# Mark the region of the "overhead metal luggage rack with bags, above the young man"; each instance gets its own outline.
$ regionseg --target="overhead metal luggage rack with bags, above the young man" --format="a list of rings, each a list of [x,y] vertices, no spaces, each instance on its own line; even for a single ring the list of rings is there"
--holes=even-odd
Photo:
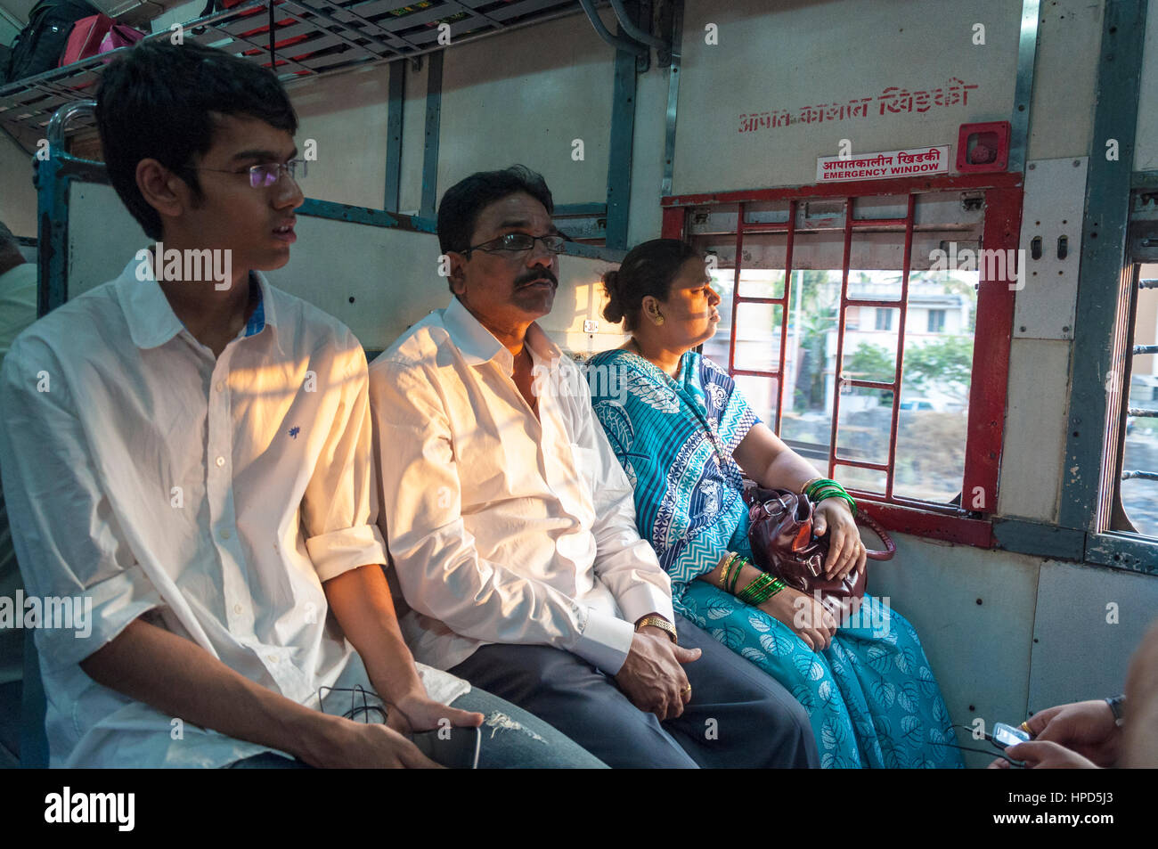
[[[450,44],[581,12],[573,0],[277,0],[274,60],[286,85],[359,65],[415,58]],[[182,24],[185,39],[270,64],[269,3],[245,2]],[[445,27],[442,24],[446,24]],[[449,29],[447,29],[447,27]],[[173,30],[146,41],[169,39]],[[440,36],[444,36],[440,42]],[[292,42],[292,43],[291,43]],[[0,124],[43,132],[52,114],[89,100],[117,51],[0,88]]]

